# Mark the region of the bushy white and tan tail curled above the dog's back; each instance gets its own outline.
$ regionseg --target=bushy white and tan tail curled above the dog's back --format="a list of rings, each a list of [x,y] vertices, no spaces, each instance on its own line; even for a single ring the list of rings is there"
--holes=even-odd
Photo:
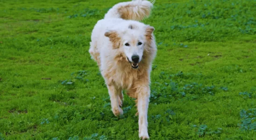
[[[141,21],[149,17],[154,3],[155,0],[151,0],[151,2],[148,0],[121,2],[109,9],[104,19],[121,18],[124,20]]]

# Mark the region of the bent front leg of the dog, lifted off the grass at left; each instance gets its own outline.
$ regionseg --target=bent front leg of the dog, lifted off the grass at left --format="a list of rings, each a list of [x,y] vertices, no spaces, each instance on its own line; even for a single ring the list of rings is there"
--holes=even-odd
[[[107,89],[108,89],[108,94],[110,96],[112,112],[114,113],[115,116],[122,115],[123,111],[119,105],[119,100],[120,100],[119,94],[121,93],[121,89],[116,88],[114,85],[108,85]]]

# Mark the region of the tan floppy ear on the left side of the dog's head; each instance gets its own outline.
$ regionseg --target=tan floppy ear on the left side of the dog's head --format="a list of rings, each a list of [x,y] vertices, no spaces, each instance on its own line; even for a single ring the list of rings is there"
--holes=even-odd
[[[119,48],[121,38],[116,31],[106,31],[104,35],[109,38],[110,42],[112,42],[113,49]]]

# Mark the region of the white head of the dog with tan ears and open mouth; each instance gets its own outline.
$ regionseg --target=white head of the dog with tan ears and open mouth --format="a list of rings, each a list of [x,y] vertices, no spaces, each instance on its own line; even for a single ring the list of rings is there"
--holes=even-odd
[[[144,50],[149,47],[152,33],[155,28],[143,25],[143,27],[129,25],[123,31],[110,30],[105,36],[113,44],[113,49],[121,49],[132,68],[137,69],[142,61]]]

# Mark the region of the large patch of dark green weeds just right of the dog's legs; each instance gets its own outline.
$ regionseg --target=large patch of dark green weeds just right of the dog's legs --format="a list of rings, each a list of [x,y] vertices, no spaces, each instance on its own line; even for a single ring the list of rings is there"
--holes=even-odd
[[[182,71],[171,75],[162,71],[159,75],[159,82],[155,82],[151,85],[150,102],[166,103],[170,102],[171,98],[179,99],[186,95],[214,95],[217,91],[214,85],[204,86],[203,84],[195,82],[185,85],[181,83],[178,84],[178,81],[185,79],[185,77],[187,77],[187,75],[184,75]]]

